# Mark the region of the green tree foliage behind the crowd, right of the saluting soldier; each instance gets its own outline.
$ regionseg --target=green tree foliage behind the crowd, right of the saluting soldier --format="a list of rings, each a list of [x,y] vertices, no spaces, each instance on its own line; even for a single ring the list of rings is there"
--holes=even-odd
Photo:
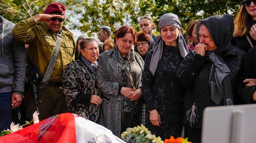
[[[74,11],[73,17],[78,15],[80,21],[79,26],[72,27],[87,32],[89,36],[92,32],[98,32],[102,25],[108,25],[115,31],[127,24],[139,31],[139,17],[146,14],[150,14],[158,25],[162,15],[175,13],[185,29],[193,19],[221,14],[234,16],[240,8],[240,0],[85,0],[78,3],[68,6]],[[158,26],[156,27],[158,32]]]

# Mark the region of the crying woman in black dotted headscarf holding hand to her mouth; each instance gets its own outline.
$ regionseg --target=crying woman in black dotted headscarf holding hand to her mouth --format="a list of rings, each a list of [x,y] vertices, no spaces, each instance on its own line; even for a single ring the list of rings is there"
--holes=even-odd
[[[196,24],[199,44],[182,61],[177,76],[187,88],[184,99],[185,137],[201,141],[205,107],[238,102],[238,71],[244,52],[230,44],[234,31],[230,15],[211,16]]]

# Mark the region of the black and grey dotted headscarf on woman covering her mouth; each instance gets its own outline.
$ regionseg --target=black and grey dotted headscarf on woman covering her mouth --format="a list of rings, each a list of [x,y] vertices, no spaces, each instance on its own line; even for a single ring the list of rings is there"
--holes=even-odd
[[[196,24],[196,37],[199,41],[199,29],[203,24],[209,31],[215,51],[206,51],[205,55],[212,62],[209,84],[211,86],[211,99],[217,105],[223,99],[224,105],[233,105],[233,95],[230,81],[231,71],[225,64],[222,56],[228,51],[234,32],[234,22],[230,15],[211,16],[199,20]]]

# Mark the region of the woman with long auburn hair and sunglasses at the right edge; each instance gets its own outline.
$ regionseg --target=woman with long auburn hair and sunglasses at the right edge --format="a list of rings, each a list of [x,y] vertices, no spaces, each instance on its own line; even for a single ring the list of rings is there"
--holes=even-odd
[[[247,52],[256,46],[256,1],[244,0],[241,4],[234,20],[235,30],[231,45]]]

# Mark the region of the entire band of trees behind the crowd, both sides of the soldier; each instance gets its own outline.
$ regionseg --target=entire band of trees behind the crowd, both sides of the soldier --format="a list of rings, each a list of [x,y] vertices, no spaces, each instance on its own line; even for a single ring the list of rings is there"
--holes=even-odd
[[[53,0],[0,0],[0,15],[17,23],[38,13],[43,13]],[[230,14],[233,17],[240,8],[240,0],[57,0],[63,3],[68,15],[65,25],[78,29],[91,36],[102,25],[112,31],[120,26],[129,25],[140,30],[139,17],[150,14],[156,24],[165,13],[177,14],[185,29],[193,19],[207,18],[212,15]]]

